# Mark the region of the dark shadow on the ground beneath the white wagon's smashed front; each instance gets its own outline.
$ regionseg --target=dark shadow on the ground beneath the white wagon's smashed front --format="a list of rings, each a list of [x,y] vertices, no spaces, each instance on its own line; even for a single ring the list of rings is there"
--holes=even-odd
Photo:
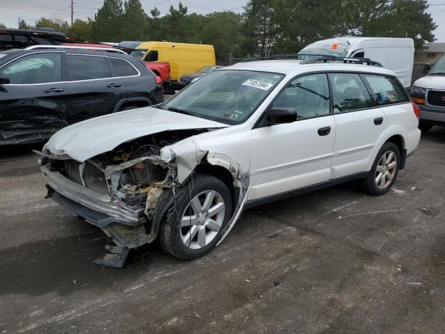
[[[0,250],[0,296],[68,296],[97,287],[119,290],[154,268],[180,262],[154,243],[131,250],[124,269],[94,264],[105,255],[105,243],[103,232],[85,223],[81,234]]]

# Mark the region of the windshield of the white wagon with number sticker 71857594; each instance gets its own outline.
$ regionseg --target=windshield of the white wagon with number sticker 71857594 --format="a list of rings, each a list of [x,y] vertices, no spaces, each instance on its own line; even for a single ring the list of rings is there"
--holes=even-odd
[[[235,125],[247,120],[283,77],[270,72],[219,70],[159,107]]]

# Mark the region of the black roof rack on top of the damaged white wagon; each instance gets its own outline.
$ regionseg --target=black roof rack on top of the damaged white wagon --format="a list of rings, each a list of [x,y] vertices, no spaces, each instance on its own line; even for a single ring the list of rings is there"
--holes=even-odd
[[[301,59],[302,56],[309,56],[310,58],[303,59],[300,64],[313,64],[317,62],[326,63],[327,61],[342,61],[343,63],[350,64],[366,64],[371,66],[383,67],[381,63],[378,61],[372,61],[369,58],[350,58],[350,57],[339,57],[332,56],[331,54],[274,54],[268,57],[254,57],[254,58],[245,58],[241,62],[245,63],[248,61],[273,61],[280,59]]]

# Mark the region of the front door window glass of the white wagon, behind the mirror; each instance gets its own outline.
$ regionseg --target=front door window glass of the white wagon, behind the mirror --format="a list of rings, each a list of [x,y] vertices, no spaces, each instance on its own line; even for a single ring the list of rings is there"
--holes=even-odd
[[[326,74],[310,74],[293,80],[273,103],[275,108],[293,108],[297,119],[328,115],[329,86]]]

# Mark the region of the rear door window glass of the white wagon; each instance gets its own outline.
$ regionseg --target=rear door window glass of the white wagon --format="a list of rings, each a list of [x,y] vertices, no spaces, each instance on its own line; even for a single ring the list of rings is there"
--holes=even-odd
[[[334,113],[363,109],[374,105],[359,74],[333,73],[330,74],[330,77],[334,97]]]

